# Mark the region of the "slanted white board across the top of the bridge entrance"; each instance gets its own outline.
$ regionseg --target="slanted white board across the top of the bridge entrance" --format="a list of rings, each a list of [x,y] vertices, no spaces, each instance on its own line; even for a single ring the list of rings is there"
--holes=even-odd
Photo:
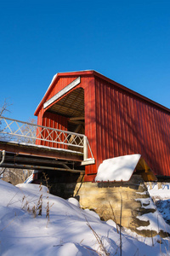
[[[50,98],[47,102],[43,104],[43,108],[47,108],[49,105],[51,105],[53,102],[58,100],[61,96],[64,96],[65,93],[67,93],[69,90],[80,84],[81,79],[78,77],[74,81],[71,82],[71,84],[68,84],[64,89],[60,90],[58,93],[56,93],[52,98]]]

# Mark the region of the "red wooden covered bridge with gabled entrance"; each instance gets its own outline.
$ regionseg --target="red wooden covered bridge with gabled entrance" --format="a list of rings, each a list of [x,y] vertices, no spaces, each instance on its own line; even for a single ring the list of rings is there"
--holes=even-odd
[[[100,73],[58,73],[35,115],[37,125],[88,137],[95,163],[85,166],[85,181],[103,160],[125,154],[141,154],[157,176],[170,176],[170,109]]]

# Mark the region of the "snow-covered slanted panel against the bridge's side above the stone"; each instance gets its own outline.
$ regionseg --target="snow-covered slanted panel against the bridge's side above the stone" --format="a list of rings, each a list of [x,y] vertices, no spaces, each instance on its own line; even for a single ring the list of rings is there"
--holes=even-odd
[[[104,160],[99,165],[95,182],[129,181],[140,157],[141,154],[127,154]]]

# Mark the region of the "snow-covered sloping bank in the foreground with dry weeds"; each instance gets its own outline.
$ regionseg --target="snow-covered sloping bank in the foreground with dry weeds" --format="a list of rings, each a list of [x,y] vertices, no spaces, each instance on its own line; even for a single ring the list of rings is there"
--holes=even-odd
[[[42,215],[31,213],[41,205]],[[130,230],[122,230],[121,238],[122,255],[170,255],[168,238],[160,243],[159,236]],[[0,180],[0,255],[121,255],[121,239],[112,220],[101,221],[73,198],[65,201],[37,184],[14,187]]]

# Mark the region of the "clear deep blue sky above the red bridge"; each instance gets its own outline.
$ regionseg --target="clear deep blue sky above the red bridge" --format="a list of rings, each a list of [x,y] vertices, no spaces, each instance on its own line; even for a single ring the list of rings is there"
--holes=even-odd
[[[170,108],[169,0],[0,0],[0,104],[28,120],[55,73],[96,70]]]

